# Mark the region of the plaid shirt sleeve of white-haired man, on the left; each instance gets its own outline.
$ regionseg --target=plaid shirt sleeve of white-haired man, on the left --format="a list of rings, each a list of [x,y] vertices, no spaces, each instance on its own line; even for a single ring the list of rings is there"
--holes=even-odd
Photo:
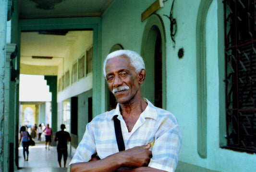
[[[88,162],[91,160],[92,155],[96,153],[94,135],[93,132],[89,129],[89,124],[86,125],[83,139],[76,148],[73,159],[69,165],[78,162]]]

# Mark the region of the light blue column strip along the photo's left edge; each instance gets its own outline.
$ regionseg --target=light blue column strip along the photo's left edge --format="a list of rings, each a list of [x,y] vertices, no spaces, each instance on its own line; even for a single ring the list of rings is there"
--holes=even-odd
[[[0,0],[0,172],[4,171],[4,69],[6,59],[7,0]],[[8,167],[7,167],[8,168]],[[5,170],[6,171],[6,170]]]

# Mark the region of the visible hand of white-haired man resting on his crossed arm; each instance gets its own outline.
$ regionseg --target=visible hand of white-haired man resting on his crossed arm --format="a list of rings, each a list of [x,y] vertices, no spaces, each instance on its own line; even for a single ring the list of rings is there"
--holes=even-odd
[[[146,167],[152,158],[152,152],[148,150],[149,148],[150,144],[147,144],[119,152],[124,160],[122,166],[130,168]]]

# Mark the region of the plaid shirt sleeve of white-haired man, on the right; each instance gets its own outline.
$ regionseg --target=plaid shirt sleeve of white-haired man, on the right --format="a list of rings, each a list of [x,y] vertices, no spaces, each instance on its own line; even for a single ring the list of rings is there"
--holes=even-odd
[[[165,118],[155,135],[149,167],[174,172],[181,149],[181,132],[175,117]]]

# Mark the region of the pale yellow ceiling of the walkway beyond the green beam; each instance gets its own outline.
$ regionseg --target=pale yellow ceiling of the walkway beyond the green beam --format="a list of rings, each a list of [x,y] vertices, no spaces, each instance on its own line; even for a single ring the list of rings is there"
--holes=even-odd
[[[82,32],[89,31],[69,31],[66,35],[22,32],[21,64],[58,66]]]

